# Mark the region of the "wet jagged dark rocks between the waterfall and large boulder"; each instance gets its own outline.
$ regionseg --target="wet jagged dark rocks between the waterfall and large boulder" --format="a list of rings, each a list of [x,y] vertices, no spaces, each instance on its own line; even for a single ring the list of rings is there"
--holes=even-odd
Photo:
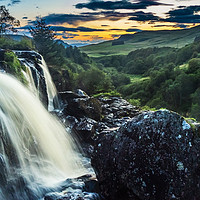
[[[93,144],[100,133],[105,134],[137,115],[139,110],[120,97],[98,99],[84,91],[59,93],[64,104],[64,118],[77,135],[86,143]]]

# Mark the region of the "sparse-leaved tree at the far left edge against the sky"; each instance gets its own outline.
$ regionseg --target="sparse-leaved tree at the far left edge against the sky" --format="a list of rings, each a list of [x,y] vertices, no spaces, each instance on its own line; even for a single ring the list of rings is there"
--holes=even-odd
[[[17,32],[15,27],[19,25],[19,20],[11,16],[5,6],[0,6],[0,36],[7,31]]]

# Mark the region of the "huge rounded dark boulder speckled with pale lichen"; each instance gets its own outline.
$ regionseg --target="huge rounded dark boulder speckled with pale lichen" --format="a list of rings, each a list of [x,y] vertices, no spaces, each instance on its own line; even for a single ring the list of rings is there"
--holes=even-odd
[[[92,165],[113,200],[200,199],[199,142],[178,114],[145,112],[102,135]]]

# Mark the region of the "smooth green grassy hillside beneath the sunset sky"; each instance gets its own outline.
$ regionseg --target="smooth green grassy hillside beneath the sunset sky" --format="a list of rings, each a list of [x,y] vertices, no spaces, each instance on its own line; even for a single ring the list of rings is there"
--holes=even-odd
[[[200,26],[181,30],[142,31],[122,35],[117,40],[84,46],[81,47],[81,51],[92,57],[127,55],[130,51],[148,47],[180,48],[199,37]]]

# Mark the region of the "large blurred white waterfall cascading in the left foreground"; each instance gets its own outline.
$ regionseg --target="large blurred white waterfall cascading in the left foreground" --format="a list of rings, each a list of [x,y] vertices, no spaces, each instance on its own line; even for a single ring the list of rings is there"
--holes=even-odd
[[[5,73],[0,73],[0,168],[0,178],[5,180],[0,181],[1,200],[36,200],[44,188],[85,173],[64,127],[38,98]],[[21,185],[35,196],[30,198],[27,189],[18,194]]]

